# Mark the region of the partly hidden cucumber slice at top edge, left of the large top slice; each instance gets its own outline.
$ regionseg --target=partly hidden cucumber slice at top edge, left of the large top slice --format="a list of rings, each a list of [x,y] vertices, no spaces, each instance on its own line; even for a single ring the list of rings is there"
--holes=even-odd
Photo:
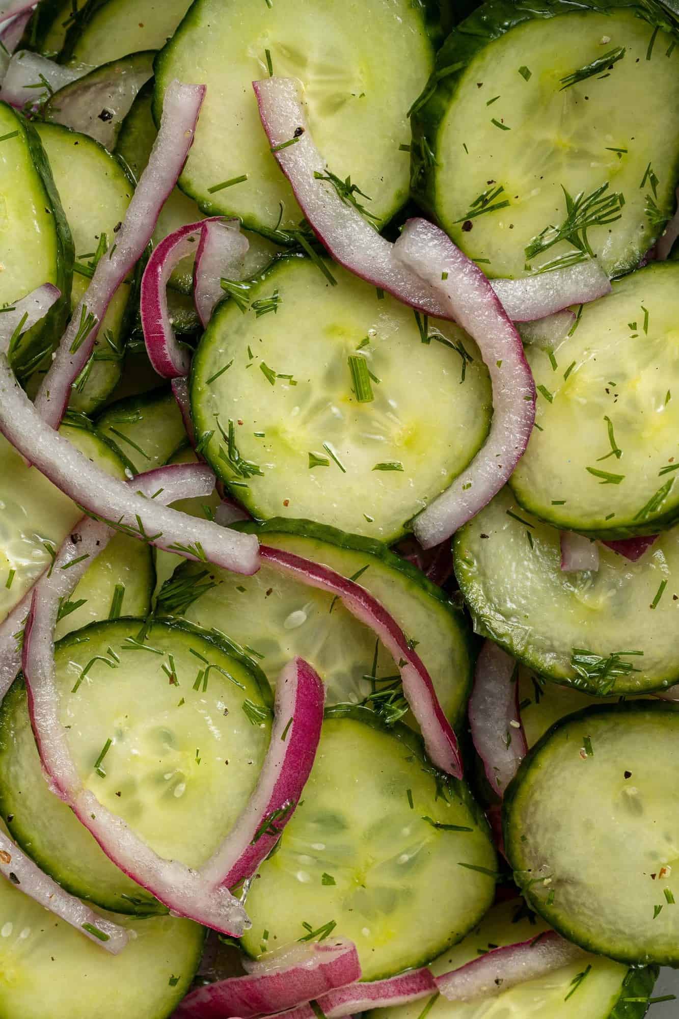
[[[61,60],[99,67],[128,53],[159,50],[190,6],[190,0],[88,0]]]

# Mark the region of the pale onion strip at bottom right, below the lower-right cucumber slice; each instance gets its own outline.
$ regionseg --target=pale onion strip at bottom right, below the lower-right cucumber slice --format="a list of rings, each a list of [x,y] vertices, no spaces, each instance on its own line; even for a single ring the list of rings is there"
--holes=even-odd
[[[439,993],[451,1002],[502,995],[510,987],[545,976],[582,959],[584,953],[554,930],[529,942],[492,949],[466,966],[435,977]]]

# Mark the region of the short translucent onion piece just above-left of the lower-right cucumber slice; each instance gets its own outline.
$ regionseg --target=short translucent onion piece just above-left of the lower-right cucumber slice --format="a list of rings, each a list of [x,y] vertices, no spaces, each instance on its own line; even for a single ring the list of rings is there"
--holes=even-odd
[[[515,667],[514,658],[487,640],[476,661],[469,698],[474,747],[490,787],[501,798],[528,753]]]

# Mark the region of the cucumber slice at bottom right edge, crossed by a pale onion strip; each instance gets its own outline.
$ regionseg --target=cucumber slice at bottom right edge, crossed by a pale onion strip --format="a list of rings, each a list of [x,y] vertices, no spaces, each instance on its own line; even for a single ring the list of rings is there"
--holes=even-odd
[[[527,942],[549,926],[526,910],[521,900],[493,906],[478,927],[430,964],[436,976],[464,966],[488,949]],[[582,976],[583,972],[585,973]],[[611,959],[590,956],[546,976],[520,983],[493,998],[449,1002],[442,995],[393,1009],[374,1009],[366,1019],[419,1019],[431,1004],[428,1019],[643,1019],[658,970],[628,969]]]

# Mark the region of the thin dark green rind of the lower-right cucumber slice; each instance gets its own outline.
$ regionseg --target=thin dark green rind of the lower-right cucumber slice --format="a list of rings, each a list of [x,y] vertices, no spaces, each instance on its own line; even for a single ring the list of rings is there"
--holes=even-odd
[[[638,711],[654,711],[660,712],[661,714],[679,714],[679,703],[674,703],[672,701],[618,701],[616,704],[593,704],[591,707],[583,708],[581,711],[574,711],[572,714],[567,714],[563,718],[552,726],[543,736],[535,743],[534,746],[530,748],[526,756],[521,761],[519,769],[515,776],[512,779],[511,783],[505,791],[505,797],[503,800],[503,842],[505,845],[505,853],[509,861],[510,867],[514,869],[514,873],[520,872],[523,868],[520,864],[523,862],[520,856],[520,845],[521,845],[521,833],[517,827],[514,833],[512,830],[512,807],[514,801],[517,798],[521,785],[526,781],[530,774],[533,767],[539,767],[540,764],[537,760],[544,746],[550,742],[552,736],[557,733],[560,729],[563,729],[566,725],[573,721],[579,721],[580,719],[587,719],[595,716],[597,714],[634,714]],[[575,794],[574,794],[575,795]],[[603,861],[603,868],[606,869],[606,861]],[[599,945],[595,945],[588,937],[584,937],[578,933],[567,921],[567,919],[560,916],[556,909],[551,909],[545,906],[545,903],[535,896],[531,895],[531,887],[528,884],[526,888],[521,888],[521,894],[528,901],[530,908],[539,914],[551,926],[554,927],[556,931],[567,937],[568,941],[574,942],[579,945],[580,948],[584,949],[585,952],[591,952],[594,955],[600,955],[602,949]],[[613,948],[613,947],[612,947]],[[630,958],[629,956],[623,957],[620,954],[613,951],[607,952],[609,958],[616,960],[617,962],[627,963],[633,967],[640,967],[636,971],[641,973],[643,968],[647,966],[647,963],[643,960],[638,960]],[[677,968],[679,966],[679,949],[677,955],[673,958],[658,960],[658,963],[663,966],[672,966]],[[655,966],[648,967],[651,971],[655,970]],[[634,970],[632,970],[634,972]],[[655,982],[655,981],[654,981]],[[652,985],[651,985],[652,986]],[[625,994],[627,997],[627,993]],[[630,995],[629,997],[635,997]],[[622,996],[621,996],[622,998]],[[638,1013],[632,1012],[630,1014],[625,1011],[620,1011],[620,1008],[625,1005],[628,1006],[634,1003],[628,1002],[618,1002],[616,1005],[617,1012],[614,1010],[611,1019],[636,1019]],[[638,1003],[637,1003],[638,1004]],[[642,1012],[641,1015],[644,1015]]]

